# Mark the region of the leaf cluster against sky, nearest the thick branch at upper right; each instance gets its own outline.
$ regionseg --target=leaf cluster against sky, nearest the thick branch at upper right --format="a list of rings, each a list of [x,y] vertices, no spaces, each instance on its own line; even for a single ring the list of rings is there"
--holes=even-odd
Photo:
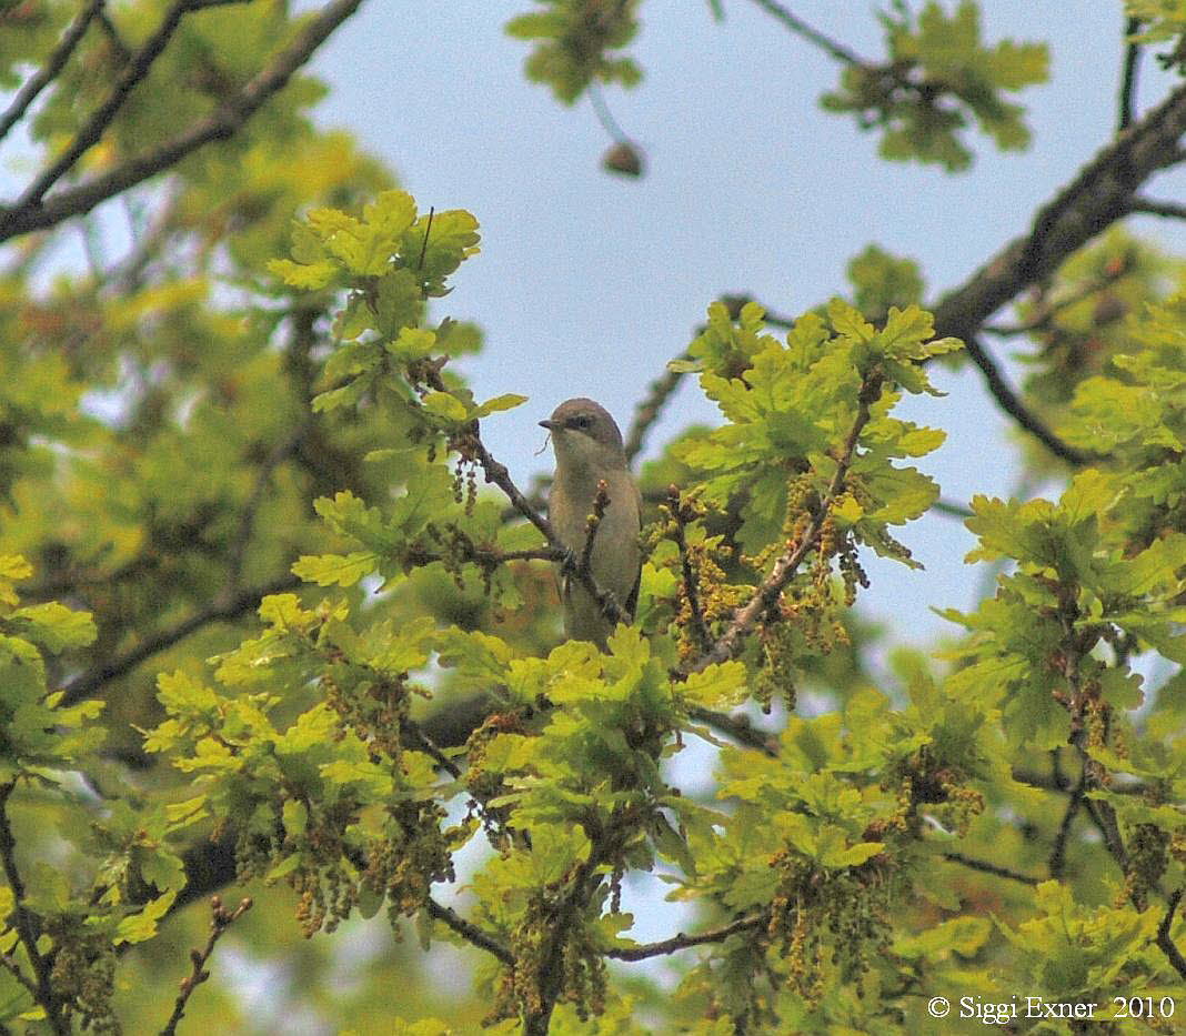
[[[1045,44],[984,46],[973,0],[961,0],[951,15],[929,0],[917,18],[897,0],[882,23],[887,60],[849,64],[840,90],[823,97],[827,110],[882,130],[882,158],[967,168],[971,152],[961,134],[973,120],[1003,151],[1028,145],[1024,109],[1003,95],[1046,82]]]

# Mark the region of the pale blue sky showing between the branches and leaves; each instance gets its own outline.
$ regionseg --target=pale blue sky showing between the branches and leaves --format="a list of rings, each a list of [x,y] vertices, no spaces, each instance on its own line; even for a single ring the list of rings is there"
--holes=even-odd
[[[536,9],[528,0],[368,0],[315,60],[331,87],[323,124],[353,130],[422,209],[468,209],[482,224],[482,254],[459,270],[438,312],[485,331],[484,352],[463,365],[479,398],[530,397],[483,426],[521,486],[551,466],[550,450],[540,452],[541,417],[565,398],[591,396],[625,430],[644,386],[722,293],[799,314],[846,293],[849,260],[876,243],[917,260],[933,300],[1025,231],[1114,130],[1120,0],[983,0],[984,39],[1048,41],[1052,76],[1020,96],[1031,149],[1001,154],[973,135],[977,158],[955,175],[879,159],[875,134],[818,105],[839,82],[833,59],[753,0],[722,6],[718,23],[707,0],[640,5],[630,53],[643,83],[605,91],[645,152],[640,180],[600,168],[610,140],[587,101],[566,108],[525,81],[528,45],[503,25]],[[872,4],[786,6],[862,57],[885,53]],[[1167,89],[1147,57],[1140,108]],[[1162,181],[1150,193],[1182,194],[1181,177]],[[1177,226],[1137,225],[1182,244]],[[910,399],[901,411],[949,433],[919,466],[954,501],[1015,493],[1018,452],[978,373],[969,365],[937,380],[946,398]],[[716,420],[686,378],[648,454],[689,423]],[[986,575],[962,563],[973,537],[936,514],[901,539],[926,571],[871,559],[861,607],[912,642],[955,633],[930,606],[969,609],[983,591]]]

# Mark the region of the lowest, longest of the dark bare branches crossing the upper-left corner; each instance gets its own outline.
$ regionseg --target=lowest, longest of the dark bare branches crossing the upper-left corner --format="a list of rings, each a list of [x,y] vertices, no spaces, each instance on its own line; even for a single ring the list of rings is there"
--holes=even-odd
[[[273,63],[213,115],[202,120],[160,147],[128,159],[108,173],[96,175],[76,187],[51,194],[40,205],[15,205],[0,209],[0,241],[31,230],[55,226],[72,216],[89,212],[101,202],[172,167],[191,152],[215,140],[225,140],[250,119],[273,94],[281,90],[293,73],[343,21],[359,7],[362,0],[333,0],[315,14],[296,38]]]

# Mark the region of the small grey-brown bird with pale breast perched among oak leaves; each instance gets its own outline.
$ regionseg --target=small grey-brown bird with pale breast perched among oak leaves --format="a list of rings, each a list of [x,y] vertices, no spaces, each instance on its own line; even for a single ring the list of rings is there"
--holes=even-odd
[[[626,468],[621,433],[608,411],[592,399],[568,399],[547,421],[556,452],[556,477],[548,497],[548,520],[561,542],[579,559],[588,539],[598,482],[606,484],[610,505],[593,539],[589,569],[602,590],[610,590],[624,612],[633,614],[638,600],[642,524],[638,486]],[[565,633],[573,640],[592,640],[602,650],[613,627],[580,581],[563,576],[560,600]]]

